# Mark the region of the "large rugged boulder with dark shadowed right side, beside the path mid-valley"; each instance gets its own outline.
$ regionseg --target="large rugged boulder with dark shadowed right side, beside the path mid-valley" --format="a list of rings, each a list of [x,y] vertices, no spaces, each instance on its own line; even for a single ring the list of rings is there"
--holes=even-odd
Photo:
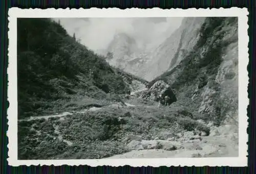
[[[150,89],[142,92],[140,98],[154,100],[160,102],[162,105],[170,105],[177,101],[177,98],[172,89],[170,89],[170,86],[162,80],[157,81]]]

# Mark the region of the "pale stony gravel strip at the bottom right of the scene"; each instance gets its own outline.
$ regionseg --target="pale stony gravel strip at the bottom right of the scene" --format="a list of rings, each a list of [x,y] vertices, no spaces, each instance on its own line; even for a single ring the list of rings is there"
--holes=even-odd
[[[131,152],[110,158],[191,158],[191,157],[236,157],[238,156],[237,135],[193,136],[186,140],[141,140],[131,145]],[[148,148],[150,144],[150,148]],[[157,148],[157,144],[161,147]],[[153,147],[153,149],[152,149]]]

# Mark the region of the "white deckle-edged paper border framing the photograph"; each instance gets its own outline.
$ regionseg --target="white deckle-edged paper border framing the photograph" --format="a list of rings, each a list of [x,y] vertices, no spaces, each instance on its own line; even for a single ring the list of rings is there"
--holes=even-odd
[[[8,163],[19,165],[90,165],[90,166],[247,166],[248,135],[246,129],[247,106],[249,104],[247,86],[248,55],[248,11],[246,8],[230,9],[18,9],[9,10],[8,48]],[[239,18],[239,157],[216,158],[154,158],[154,159],[87,159],[87,160],[17,160],[17,18],[75,18],[75,17],[206,17],[238,16]]]

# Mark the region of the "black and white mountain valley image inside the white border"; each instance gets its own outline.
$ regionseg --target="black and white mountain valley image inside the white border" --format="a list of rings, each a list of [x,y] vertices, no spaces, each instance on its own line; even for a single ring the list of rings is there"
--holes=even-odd
[[[17,17],[17,160],[239,157],[239,30],[238,16]]]

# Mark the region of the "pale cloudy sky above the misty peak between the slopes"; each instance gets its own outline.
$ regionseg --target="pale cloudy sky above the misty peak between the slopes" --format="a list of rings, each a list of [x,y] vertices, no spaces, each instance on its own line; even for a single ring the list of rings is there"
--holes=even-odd
[[[105,49],[118,32],[126,33],[140,44],[158,42],[181,24],[182,18],[57,18],[72,36],[96,51]]]

